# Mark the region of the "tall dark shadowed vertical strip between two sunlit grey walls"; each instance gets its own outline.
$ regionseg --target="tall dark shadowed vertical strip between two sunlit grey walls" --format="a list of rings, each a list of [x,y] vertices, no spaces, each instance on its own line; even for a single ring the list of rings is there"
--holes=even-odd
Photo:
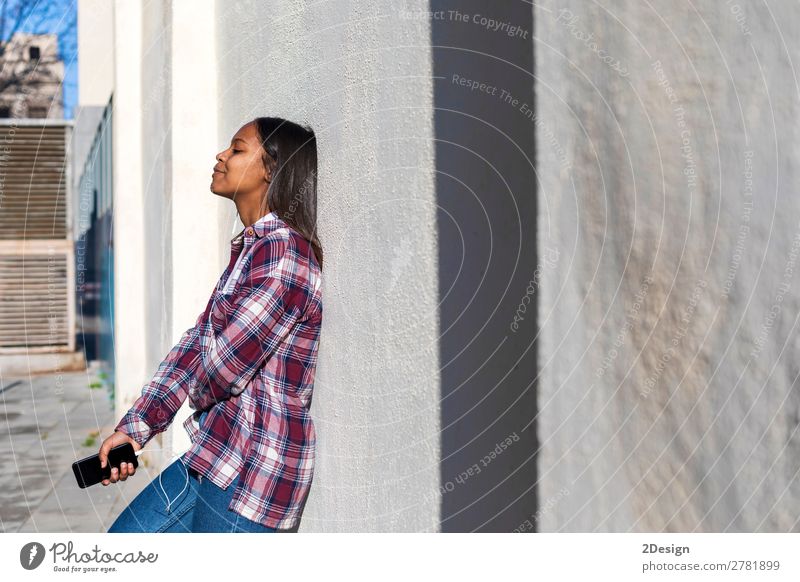
[[[430,3],[441,531],[535,531],[533,8]]]

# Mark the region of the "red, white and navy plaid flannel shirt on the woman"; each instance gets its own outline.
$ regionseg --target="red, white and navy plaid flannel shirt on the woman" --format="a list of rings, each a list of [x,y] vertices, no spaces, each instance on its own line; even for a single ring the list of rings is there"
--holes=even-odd
[[[246,228],[231,240],[205,311],[116,430],[144,446],[188,398],[195,412],[183,422],[192,440],[187,465],[223,489],[241,477],[228,509],[294,527],[314,470],[320,281],[311,245],[274,213]]]

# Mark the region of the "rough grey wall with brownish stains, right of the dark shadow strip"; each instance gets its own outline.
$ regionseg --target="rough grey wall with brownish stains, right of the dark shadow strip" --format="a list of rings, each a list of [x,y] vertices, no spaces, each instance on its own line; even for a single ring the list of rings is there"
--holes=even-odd
[[[540,529],[799,531],[800,9],[535,14]]]

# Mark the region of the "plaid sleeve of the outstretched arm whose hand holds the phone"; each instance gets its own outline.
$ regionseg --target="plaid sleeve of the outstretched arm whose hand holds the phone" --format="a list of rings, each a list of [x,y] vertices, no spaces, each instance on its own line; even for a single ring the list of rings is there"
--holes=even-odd
[[[186,400],[188,380],[199,356],[197,335],[207,310],[198,316],[194,327],[181,335],[114,430],[127,434],[144,447],[167,429]]]

